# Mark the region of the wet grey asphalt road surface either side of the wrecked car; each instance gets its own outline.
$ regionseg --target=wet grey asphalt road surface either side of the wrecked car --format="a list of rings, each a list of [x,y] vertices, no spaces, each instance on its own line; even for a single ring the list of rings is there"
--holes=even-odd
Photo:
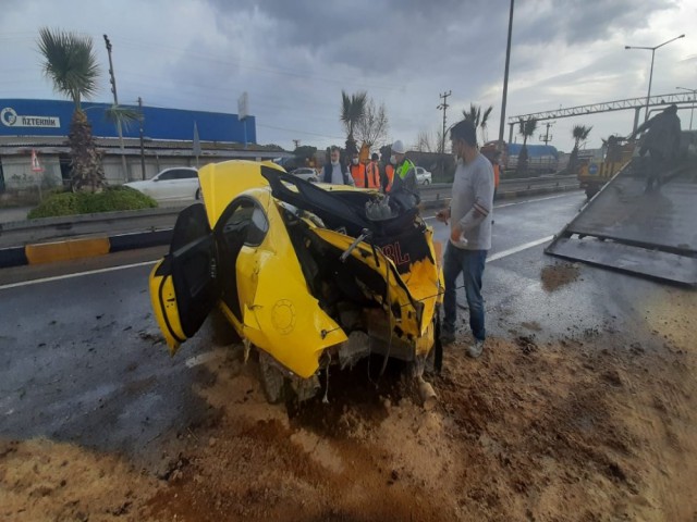
[[[497,206],[485,273],[490,335],[518,335],[521,324],[540,339],[610,323],[636,333],[647,330],[646,303],[689,291],[586,265],[559,290],[545,289],[541,272],[563,262],[543,246],[584,201],[574,191]],[[430,223],[444,239],[445,226]],[[230,337],[208,321],[168,356],[147,291],[162,251],[0,271],[0,437],[143,457],[205,422],[208,407],[192,386],[215,378],[200,363]]]

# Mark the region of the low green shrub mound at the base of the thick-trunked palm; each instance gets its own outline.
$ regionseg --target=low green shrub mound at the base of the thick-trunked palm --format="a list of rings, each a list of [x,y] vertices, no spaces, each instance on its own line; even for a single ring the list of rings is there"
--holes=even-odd
[[[33,209],[29,220],[58,215],[90,214],[118,210],[152,209],[157,202],[130,187],[109,187],[101,192],[60,192],[46,198]]]

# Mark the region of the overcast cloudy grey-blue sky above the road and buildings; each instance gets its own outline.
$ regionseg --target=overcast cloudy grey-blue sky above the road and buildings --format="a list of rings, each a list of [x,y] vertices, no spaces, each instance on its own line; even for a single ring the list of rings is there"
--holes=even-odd
[[[390,139],[415,144],[470,102],[501,114],[509,0],[2,0],[0,99],[58,99],[40,72],[42,26],[89,35],[102,64],[94,101],[111,101],[102,35],[113,47],[119,101],[237,112],[249,95],[261,144],[343,144],[341,90],[384,102]],[[506,116],[697,89],[694,0],[517,0]],[[689,110],[678,113],[683,128]],[[641,114],[643,117],[643,114]],[[634,111],[558,120],[552,145],[568,151],[575,124],[588,147],[632,130]],[[697,127],[697,122],[695,123]],[[543,127],[542,129],[543,130]],[[531,142],[539,142],[538,136]],[[205,135],[201,135],[205,139]],[[505,132],[508,139],[508,126]],[[519,138],[518,138],[519,139]]]

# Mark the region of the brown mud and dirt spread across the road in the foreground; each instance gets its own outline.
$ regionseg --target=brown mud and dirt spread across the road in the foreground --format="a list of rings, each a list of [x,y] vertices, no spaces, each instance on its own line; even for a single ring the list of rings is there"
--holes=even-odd
[[[431,411],[376,365],[333,378],[329,405],[269,406],[254,361],[220,349],[192,391],[204,421],[155,464],[3,442],[0,519],[694,521],[696,323],[664,304],[641,340],[521,325],[477,361],[453,345]]]

